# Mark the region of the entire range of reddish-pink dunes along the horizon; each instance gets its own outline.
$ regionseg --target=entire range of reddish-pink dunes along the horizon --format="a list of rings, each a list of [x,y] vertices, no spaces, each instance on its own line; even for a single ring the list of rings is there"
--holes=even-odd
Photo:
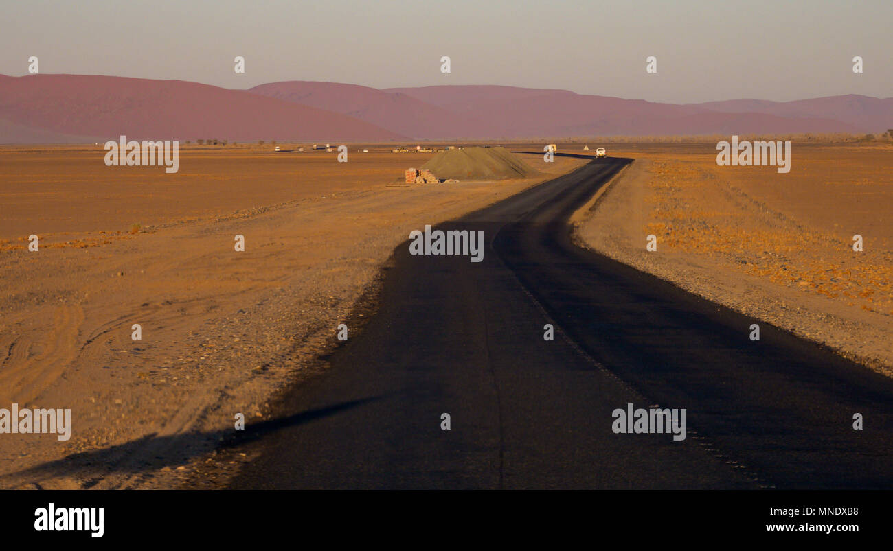
[[[293,80],[230,90],[182,80],[0,75],[0,143],[135,139],[379,142],[880,133],[893,98],[655,103],[514,86],[376,89]]]

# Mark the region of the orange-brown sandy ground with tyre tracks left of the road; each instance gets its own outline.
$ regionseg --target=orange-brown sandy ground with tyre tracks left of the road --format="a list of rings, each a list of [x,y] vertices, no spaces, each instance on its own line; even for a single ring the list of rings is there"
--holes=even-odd
[[[583,162],[406,187],[430,154],[270,149],[187,149],[176,175],[105,167],[96,147],[0,152],[0,407],[71,408],[73,427],[0,434],[0,487],[177,486],[237,413],[263,418],[320,365],[410,231]]]

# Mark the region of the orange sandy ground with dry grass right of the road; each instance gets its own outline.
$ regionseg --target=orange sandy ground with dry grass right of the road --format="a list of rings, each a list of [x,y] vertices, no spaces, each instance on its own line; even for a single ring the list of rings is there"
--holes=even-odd
[[[789,174],[718,167],[714,144],[609,154],[637,160],[580,243],[893,374],[893,149],[794,144]]]

